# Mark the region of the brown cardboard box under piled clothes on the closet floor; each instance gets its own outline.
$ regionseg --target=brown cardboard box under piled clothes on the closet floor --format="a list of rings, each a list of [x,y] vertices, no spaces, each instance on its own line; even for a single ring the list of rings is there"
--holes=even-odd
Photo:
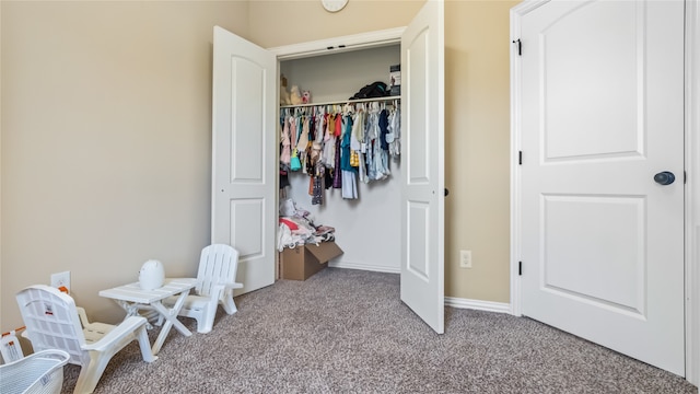
[[[335,242],[322,242],[285,248],[280,253],[280,277],[282,279],[306,280],[328,266],[328,260],[342,254]]]

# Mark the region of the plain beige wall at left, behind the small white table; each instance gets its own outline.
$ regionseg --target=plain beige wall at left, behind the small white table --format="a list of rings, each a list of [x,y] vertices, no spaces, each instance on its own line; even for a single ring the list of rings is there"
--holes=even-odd
[[[159,258],[195,276],[210,240],[211,43],[247,36],[247,2],[2,1],[0,328],[14,293],[70,270],[98,290]]]

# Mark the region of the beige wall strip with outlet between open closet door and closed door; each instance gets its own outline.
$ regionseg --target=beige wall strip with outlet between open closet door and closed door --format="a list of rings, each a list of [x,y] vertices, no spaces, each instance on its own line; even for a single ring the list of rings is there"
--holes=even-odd
[[[510,302],[510,15],[520,1],[445,7],[445,294]],[[472,268],[459,268],[470,250]]]

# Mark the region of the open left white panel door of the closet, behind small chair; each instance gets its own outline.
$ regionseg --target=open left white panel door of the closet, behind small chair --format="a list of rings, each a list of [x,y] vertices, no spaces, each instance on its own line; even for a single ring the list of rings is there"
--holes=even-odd
[[[275,282],[277,58],[219,26],[213,46],[211,241],[248,292]]]

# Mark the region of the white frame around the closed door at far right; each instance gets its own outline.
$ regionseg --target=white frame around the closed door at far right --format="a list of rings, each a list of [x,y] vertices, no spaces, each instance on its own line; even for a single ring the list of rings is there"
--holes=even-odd
[[[521,94],[521,67],[515,42],[520,38],[521,18],[550,0],[525,0],[511,9],[511,305],[510,313],[522,316],[522,286],[518,258],[521,255],[522,195],[518,171],[522,129],[521,108],[515,97]],[[685,317],[686,317],[686,380],[700,385],[700,4],[686,4],[685,55]],[[695,131],[695,132],[692,132]]]

